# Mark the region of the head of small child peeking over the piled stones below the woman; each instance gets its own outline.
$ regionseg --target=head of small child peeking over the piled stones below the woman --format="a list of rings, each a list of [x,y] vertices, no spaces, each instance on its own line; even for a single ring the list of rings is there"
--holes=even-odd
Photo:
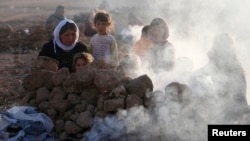
[[[73,58],[73,68],[75,72],[78,72],[86,64],[94,61],[93,56],[90,53],[82,52],[76,53]]]

